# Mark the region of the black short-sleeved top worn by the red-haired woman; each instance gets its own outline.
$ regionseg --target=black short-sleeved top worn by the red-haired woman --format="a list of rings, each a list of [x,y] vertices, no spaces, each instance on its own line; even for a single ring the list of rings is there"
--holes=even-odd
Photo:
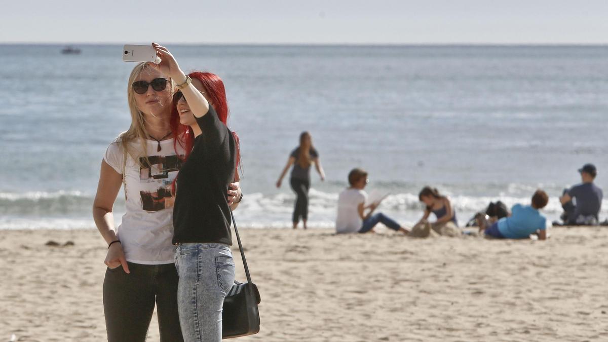
[[[178,174],[173,208],[173,243],[219,242],[232,245],[228,186],[237,165],[235,139],[209,105],[197,117],[202,134]]]

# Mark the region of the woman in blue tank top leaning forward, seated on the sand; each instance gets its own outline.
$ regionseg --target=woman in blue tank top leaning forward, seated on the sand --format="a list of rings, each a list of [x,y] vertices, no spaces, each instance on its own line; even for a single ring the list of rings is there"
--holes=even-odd
[[[412,228],[412,236],[428,236],[431,231],[443,236],[460,236],[462,234],[458,228],[456,213],[452,209],[452,204],[446,196],[441,195],[437,189],[425,186],[418,194],[418,199],[423,202],[424,215]],[[430,213],[435,214],[437,220],[430,223],[428,218]],[[422,231],[422,232],[419,232]]]

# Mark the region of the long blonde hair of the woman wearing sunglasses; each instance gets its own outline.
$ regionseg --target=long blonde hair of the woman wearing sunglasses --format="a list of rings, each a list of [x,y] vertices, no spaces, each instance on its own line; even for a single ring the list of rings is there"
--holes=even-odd
[[[130,155],[131,158],[133,158],[133,160],[137,164],[139,164],[139,166],[142,166],[141,162],[139,161],[139,158],[142,156],[142,153],[143,158],[145,158],[145,161],[150,164],[150,162],[148,161],[148,155],[146,153],[146,139],[148,138],[149,134],[145,125],[145,117],[143,116],[142,111],[137,108],[137,103],[135,102],[135,94],[132,85],[133,82],[136,82],[137,79],[139,79],[139,75],[141,75],[143,71],[147,71],[151,68],[152,67],[148,65],[148,63],[139,63],[135,66],[135,68],[133,68],[133,71],[131,71],[131,75],[129,75],[129,83],[126,88],[126,97],[129,103],[129,111],[131,112],[131,126],[128,130],[120,133],[119,136],[119,140],[122,143],[123,153],[125,153],[125,156],[127,154]],[[171,94],[173,94],[175,90],[175,85],[173,83],[173,80],[168,77],[167,79],[168,86],[170,86]],[[173,105],[173,102],[169,101],[168,105]],[[130,143],[134,141],[139,141],[141,150],[130,147]]]

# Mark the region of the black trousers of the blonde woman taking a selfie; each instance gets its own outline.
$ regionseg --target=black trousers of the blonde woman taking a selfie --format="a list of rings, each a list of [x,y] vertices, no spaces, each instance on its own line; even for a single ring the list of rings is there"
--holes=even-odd
[[[144,342],[154,312],[162,342],[182,342],[178,313],[178,272],[174,263],[142,265],[128,262],[106,270],[103,280],[103,312],[109,342]]]

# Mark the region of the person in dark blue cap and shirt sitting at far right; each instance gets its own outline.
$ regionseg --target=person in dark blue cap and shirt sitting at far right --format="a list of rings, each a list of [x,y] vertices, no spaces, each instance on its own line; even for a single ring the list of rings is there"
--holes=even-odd
[[[564,194],[559,198],[564,208],[562,220],[564,225],[598,225],[599,209],[604,197],[602,189],[593,183],[598,170],[593,164],[585,164],[578,172],[581,173],[582,183],[564,190]]]

